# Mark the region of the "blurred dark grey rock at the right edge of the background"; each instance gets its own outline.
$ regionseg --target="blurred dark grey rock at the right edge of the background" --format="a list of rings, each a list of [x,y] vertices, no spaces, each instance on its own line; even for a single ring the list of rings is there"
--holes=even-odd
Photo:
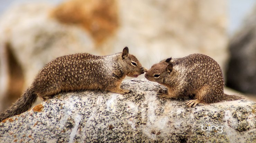
[[[229,49],[227,86],[256,95],[256,7],[232,37]]]

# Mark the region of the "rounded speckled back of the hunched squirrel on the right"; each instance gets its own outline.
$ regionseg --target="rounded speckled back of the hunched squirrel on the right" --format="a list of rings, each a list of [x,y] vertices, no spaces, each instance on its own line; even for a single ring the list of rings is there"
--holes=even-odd
[[[219,64],[211,57],[203,54],[191,54],[183,58],[173,59],[179,69],[184,70],[184,88],[201,88],[205,84],[213,87],[217,94],[224,89],[224,79]]]

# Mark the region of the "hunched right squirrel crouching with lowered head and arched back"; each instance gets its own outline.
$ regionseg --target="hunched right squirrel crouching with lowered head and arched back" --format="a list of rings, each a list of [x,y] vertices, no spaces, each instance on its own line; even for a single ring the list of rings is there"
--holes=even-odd
[[[158,94],[159,98],[193,97],[194,100],[186,102],[188,107],[195,107],[198,103],[244,99],[224,94],[224,79],[219,64],[203,54],[164,59],[154,64],[145,77],[167,87],[168,93]]]

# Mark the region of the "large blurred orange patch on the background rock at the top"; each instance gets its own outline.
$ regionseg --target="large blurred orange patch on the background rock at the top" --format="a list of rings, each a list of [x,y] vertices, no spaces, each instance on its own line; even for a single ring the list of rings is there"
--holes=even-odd
[[[116,0],[69,0],[56,7],[51,15],[61,23],[82,26],[96,44],[100,44],[118,28]]]

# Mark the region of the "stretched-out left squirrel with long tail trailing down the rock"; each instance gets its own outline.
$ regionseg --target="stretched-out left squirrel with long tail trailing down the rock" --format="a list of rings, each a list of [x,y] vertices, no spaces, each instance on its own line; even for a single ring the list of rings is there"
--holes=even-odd
[[[138,77],[144,70],[128,47],[108,56],[79,53],[58,57],[41,69],[24,94],[0,114],[0,122],[27,111],[37,97],[45,101],[60,92],[81,90],[128,94],[131,90],[120,88],[122,80],[125,76]]]

